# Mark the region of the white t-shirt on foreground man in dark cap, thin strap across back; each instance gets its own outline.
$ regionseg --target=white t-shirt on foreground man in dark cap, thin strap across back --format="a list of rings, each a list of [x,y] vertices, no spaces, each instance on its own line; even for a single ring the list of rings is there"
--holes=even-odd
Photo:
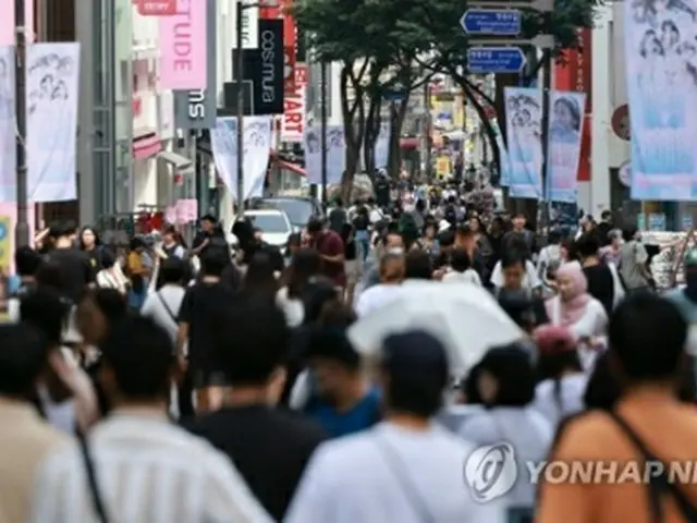
[[[463,464],[474,447],[433,424],[424,431],[389,423],[321,445],[286,523],[501,523],[502,503],[477,503]]]

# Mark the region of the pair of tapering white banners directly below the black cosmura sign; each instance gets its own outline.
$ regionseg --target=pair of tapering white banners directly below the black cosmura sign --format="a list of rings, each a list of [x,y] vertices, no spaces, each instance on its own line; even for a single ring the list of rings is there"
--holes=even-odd
[[[237,197],[237,119],[220,117],[210,130],[210,144],[218,174],[233,197]],[[244,198],[264,193],[264,180],[271,149],[271,117],[244,119]]]

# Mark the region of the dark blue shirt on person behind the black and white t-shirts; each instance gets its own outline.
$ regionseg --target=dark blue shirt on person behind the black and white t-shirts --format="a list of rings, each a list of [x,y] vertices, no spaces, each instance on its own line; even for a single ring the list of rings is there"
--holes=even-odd
[[[310,400],[305,413],[315,418],[331,438],[339,438],[358,433],[380,422],[380,392],[377,387],[372,387],[348,411],[337,412],[333,405],[317,399]]]

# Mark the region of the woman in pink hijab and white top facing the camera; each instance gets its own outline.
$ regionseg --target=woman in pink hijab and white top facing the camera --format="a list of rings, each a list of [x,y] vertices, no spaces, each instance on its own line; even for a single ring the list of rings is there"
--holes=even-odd
[[[570,329],[578,343],[584,368],[591,366],[598,349],[604,348],[608,314],[588,293],[588,281],[578,262],[563,264],[557,271],[559,294],[545,302],[547,316],[555,326]]]

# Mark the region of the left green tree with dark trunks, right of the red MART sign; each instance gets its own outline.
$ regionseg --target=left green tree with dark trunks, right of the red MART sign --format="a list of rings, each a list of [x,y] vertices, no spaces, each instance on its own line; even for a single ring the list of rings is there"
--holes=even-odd
[[[414,65],[413,59],[430,42],[417,41],[415,38],[419,35],[405,33],[399,22],[403,13],[400,4],[386,0],[299,0],[294,7],[294,15],[307,36],[313,58],[341,63],[345,191],[353,182],[362,147],[366,166],[374,166],[384,90],[398,83],[412,90],[423,81],[425,72],[430,74],[424,66]],[[403,109],[391,111],[394,114],[391,135],[396,134],[398,159],[399,133],[405,111],[405,104]],[[391,142],[393,139],[391,137]]]

